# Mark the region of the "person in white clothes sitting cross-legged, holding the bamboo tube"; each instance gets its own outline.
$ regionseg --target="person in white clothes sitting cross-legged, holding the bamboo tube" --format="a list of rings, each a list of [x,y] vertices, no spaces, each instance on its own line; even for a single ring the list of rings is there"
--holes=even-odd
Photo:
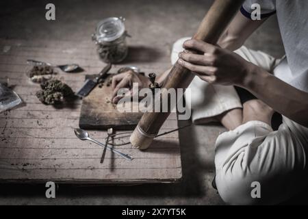
[[[253,3],[261,6],[259,21],[251,20]],[[198,40],[183,43],[185,51],[179,53],[179,64],[198,76],[190,85],[192,98],[188,99],[196,112],[193,121],[215,119],[229,130],[218,136],[215,151],[216,185],[229,204],[277,204],[307,185],[307,9],[308,1],[302,0],[248,0],[218,45]],[[286,53],[281,60],[242,47],[246,38],[275,13]],[[175,43],[172,62],[182,42]],[[167,74],[162,74],[159,82]],[[132,82],[140,87],[149,83],[134,73],[114,77],[115,103],[118,89]],[[248,90],[257,99],[241,105],[233,86]],[[201,91],[210,98],[200,101],[200,95],[195,94]],[[270,126],[274,112],[283,115],[277,131]],[[260,198],[251,195],[255,182],[260,185]]]

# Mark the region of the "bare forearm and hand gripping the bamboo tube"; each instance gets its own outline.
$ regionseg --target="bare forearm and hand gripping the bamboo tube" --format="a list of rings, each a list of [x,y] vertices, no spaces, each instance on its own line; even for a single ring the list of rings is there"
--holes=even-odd
[[[273,110],[308,127],[307,92],[290,86],[228,49],[198,40],[188,40],[184,47],[204,53],[180,53],[179,60],[179,64],[190,69],[204,81],[245,88]]]

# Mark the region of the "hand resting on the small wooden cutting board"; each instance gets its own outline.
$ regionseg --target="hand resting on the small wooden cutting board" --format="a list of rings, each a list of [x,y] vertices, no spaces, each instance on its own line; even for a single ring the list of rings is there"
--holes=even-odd
[[[138,83],[138,88],[140,89],[149,87],[149,79],[144,75],[133,72],[133,70],[114,75],[114,77],[112,77],[112,103],[118,103],[118,101],[123,97],[117,95],[118,90],[121,88],[129,88],[129,92],[125,95],[133,95],[133,83]]]

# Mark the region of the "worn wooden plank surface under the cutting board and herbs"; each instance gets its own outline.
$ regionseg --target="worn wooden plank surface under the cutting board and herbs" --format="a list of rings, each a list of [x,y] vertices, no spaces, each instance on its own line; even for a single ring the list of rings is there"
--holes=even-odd
[[[158,47],[158,46],[157,46]],[[168,52],[162,51],[160,68],[154,63],[133,59],[144,72],[162,72]],[[40,86],[25,75],[26,60],[55,64],[77,62],[83,73],[63,73],[61,79],[76,91],[88,74],[98,73],[105,64],[99,61],[94,44],[89,40],[4,40],[0,39],[0,81],[9,81],[25,102],[21,107],[0,114],[0,181],[62,183],[159,183],[181,179],[181,156],[178,132],[155,139],[147,151],[132,149],[130,144],[115,146],[134,157],[128,161],[106,153],[100,164],[101,147],[75,137],[79,126],[81,100],[54,107],[42,105],[36,98]],[[133,61],[135,60],[135,61]],[[114,69],[125,66],[118,65]],[[162,68],[162,69],[161,69]],[[177,128],[177,116],[171,114],[161,133]],[[122,131],[123,132],[123,131]],[[89,131],[90,136],[104,141],[105,131]],[[118,131],[117,133],[121,133]],[[125,134],[121,142],[129,140]]]

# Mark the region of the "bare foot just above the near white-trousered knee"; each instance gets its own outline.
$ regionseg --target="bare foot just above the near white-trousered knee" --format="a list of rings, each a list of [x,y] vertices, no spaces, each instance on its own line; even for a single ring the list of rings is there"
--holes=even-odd
[[[274,110],[258,99],[246,101],[243,104],[243,124],[248,121],[258,120],[271,125],[272,114],[274,114]]]

